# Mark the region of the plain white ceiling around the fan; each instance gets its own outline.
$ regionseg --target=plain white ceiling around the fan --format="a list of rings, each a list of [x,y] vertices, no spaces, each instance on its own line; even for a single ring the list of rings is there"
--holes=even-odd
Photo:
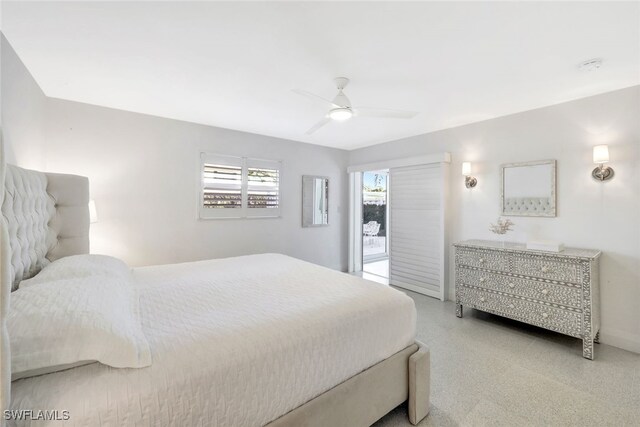
[[[51,97],[356,148],[640,83],[640,3],[4,2]],[[604,59],[596,72],[582,61]],[[332,79],[419,111],[304,132]]]

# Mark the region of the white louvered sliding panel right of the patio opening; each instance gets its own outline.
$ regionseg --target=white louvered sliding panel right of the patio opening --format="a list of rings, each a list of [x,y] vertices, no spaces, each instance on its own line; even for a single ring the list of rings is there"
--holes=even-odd
[[[389,171],[390,283],[444,299],[444,177],[441,164]]]

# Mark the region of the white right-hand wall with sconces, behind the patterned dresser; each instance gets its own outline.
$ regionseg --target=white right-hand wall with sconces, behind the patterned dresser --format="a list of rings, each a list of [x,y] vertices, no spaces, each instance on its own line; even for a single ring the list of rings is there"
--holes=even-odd
[[[500,214],[499,165],[556,159],[558,216],[513,217],[512,239],[559,240],[603,251],[602,340],[640,352],[640,86],[393,141],[350,153],[350,164],[449,151],[449,237],[493,239]],[[591,178],[591,148],[609,144],[616,176]],[[473,162],[474,189],[461,163]],[[452,264],[452,263],[450,263]],[[449,298],[453,266],[449,265]]]

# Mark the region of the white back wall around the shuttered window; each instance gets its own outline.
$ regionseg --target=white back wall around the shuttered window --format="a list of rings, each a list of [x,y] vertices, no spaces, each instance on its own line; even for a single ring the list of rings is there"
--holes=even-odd
[[[281,252],[347,267],[348,152],[49,99],[46,170],[86,175],[92,251],[130,265]],[[282,160],[282,218],[198,220],[201,151]],[[330,225],[302,228],[302,175],[330,178]]]

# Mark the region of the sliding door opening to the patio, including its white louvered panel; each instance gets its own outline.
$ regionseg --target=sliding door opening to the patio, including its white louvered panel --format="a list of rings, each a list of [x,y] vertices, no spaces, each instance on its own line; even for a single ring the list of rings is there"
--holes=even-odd
[[[437,153],[348,167],[349,272],[444,300],[450,162]]]

